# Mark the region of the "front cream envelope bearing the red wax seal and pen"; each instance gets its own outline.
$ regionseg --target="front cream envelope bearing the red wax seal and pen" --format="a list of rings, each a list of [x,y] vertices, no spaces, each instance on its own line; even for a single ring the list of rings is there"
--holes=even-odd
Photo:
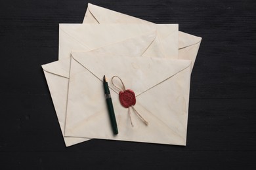
[[[72,53],[65,136],[186,145],[190,67],[191,60]],[[104,75],[119,76],[135,92],[135,109],[148,126],[133,110],[131,126],[127,109],[119,103],[119,91],[109,80],[119,131],[113,135]]]

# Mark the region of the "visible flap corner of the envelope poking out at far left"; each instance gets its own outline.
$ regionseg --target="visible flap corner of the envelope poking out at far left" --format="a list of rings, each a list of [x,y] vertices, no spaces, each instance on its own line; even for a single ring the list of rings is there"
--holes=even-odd
[[[54,75],[70,77],[70,58],[60,59],[52,63],[42,65],[44,71],[53,73]]]

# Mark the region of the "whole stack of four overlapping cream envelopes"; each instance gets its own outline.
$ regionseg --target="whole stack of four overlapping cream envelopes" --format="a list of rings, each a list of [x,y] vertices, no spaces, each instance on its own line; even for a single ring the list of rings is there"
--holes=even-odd
[[[89,139],[186,145],[190,75],[202,38],[178,24],[153,24],[88,4],[83,24],[60,24],[58,61],[42,65],[66,146]],[[119,103],[109,82],[118,135],[102,78],[119,76],[136,110]]]

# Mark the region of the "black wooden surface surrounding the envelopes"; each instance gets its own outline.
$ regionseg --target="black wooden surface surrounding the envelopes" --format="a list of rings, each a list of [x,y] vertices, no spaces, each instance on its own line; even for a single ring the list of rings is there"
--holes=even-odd
[[[93,139],[66,148],[41,64],[58,24],[85,0],[0,5],[0,169],[255,169],[256,1],[90,1],[203,37],[191,79],[187,146]]]

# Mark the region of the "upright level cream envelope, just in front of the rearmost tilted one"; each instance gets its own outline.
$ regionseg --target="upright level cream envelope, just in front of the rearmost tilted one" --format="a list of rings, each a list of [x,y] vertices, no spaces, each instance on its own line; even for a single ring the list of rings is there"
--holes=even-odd
[[[154,36],[150,46],[146,48],[134,48],[140,50],[141,56],[167,55],[173,58],[178,56],[178,24],[166,24],[167,37],[157,34],[159,26],[145,24],[60,24],[59,27],[59,55],[58,59],[70,58],[71,51],[90,51],[95,48],[107,46],[134,37]],[[164,43],[160,43],[163,39]],[[144,41],[142,39],[142,41]],[[170,47],[163,46],[165,43]],[[129,46],[123,44],[124,46]]]

